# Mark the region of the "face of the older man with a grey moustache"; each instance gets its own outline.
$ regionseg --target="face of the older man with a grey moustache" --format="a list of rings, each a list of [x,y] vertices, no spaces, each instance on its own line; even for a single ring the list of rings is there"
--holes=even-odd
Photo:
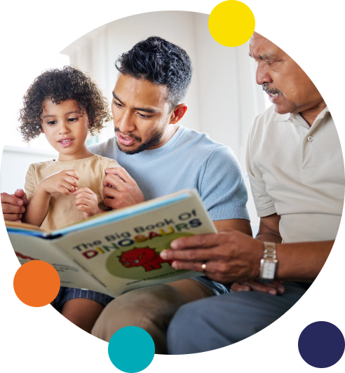
[[[278,114],[303,112],[323,102],[309,76],[276,44],[254,32],[249,49],[257,62],[257,83]]]

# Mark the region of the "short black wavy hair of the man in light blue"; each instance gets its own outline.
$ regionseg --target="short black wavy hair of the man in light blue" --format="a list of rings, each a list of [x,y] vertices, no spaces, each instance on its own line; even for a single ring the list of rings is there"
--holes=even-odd
[[[189,55],[159,36],[135,44],[116,60],[115,67],[123,75],[167,86],[169,111],[186,96],[193,73]]]

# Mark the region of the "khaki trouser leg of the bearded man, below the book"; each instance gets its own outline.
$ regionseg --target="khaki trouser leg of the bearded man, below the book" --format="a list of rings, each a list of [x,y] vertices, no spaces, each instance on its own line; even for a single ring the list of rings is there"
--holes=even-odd
[[[104,308],[91,334],[109,342],[113,334],[122,327],[141,327],[154,340],[156,354],[167,354],[166,332],[177,309],[189,301],[212,295],[214,294],[208,287],[191,278],[131,290],[112,300]]]

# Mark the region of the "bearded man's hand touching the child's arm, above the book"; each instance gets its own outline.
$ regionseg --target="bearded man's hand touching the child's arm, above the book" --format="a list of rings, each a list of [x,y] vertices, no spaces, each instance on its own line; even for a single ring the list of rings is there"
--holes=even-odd
[[[124,168],[109,168],[105,173],[107,177],[103,180],[104,205],[116,210],[145,201],[139,186]]]

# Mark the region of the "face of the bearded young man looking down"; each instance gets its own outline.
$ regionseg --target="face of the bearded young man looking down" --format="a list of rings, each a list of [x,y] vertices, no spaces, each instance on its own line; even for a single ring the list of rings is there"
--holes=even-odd
[[[126,154],[156,149],[165,143],[170,123],[166,86],[120,74],[113,91],[111,111],[116,143]]]

